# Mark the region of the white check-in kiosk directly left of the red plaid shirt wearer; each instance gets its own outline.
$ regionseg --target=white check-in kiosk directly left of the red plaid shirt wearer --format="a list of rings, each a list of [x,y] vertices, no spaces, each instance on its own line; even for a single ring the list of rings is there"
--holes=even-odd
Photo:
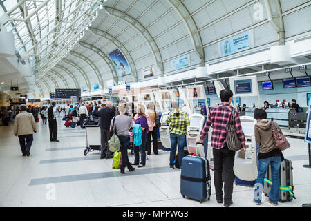
[[[187,127],[187,148],[189,153],[198,153],[200,156],[205,157],[204,146],[196,147],[196,140],[200,139],[200,131],[204,127],[205,118],[200,114],[202,106],[206,104],[207,99],[205,95],[204,86],[194,85],[186,86],[186,95],[190,104],[189,121],[190,125]],[[200,110],[197,112],[197,107],[200,106]],[[198,148],[198,150],[196,150]]]

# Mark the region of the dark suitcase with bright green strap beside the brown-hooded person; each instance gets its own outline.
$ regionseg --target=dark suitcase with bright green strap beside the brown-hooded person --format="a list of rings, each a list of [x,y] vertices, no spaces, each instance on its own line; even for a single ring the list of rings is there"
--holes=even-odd
[[[296,199],[294,196],[294,184],[292,176],[292,161],[284,159],[281,162],[281,168],[279,172],[280,177],[280,190],[279,190],[279,202],[291,202],[292,199]],[[269,196],[272,186],[271,180],[271,165],[267,169],[267,175],[263,186],[263,193]]]

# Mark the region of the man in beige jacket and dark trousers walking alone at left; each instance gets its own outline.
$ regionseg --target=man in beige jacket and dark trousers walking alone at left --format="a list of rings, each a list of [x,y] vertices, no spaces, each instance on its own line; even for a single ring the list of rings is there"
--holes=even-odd
[[[15,117],[14,135],[19,136],[19,144],[23,156],[30,155],[30,148],[33,141],[33,132],[37,132],[35,118],[31,113],[27,113],[27,106],[21,104],[21,113]],[[26,143],[26,144],[25,144]]]

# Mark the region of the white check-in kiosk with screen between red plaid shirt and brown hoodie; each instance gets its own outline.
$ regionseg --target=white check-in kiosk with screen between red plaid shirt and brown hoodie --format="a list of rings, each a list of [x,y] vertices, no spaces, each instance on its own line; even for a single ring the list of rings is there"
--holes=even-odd
[[[234,94],[234,106],[236,107],[236,96],[250,97],[258,99],[260,105],[258,82],[256,76],[231,77],[230,88]],[[234,161],[234,174],[236,175],[236,184],[243,186],[254,186],[257,177],[257,150],[254,135],[256,120],[254,117],[241,116],[241,124],[245,134],[246,152],[236,151]]]

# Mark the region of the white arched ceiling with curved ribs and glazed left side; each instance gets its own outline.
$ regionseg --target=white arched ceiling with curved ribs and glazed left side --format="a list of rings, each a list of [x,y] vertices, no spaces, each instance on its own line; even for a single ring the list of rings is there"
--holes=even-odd
[[[220,40],[245,30],[254,32],[254,46],[281,42],[264,0],[46,0],[44,6],[26,0],[13,10],[14,2],[0,0],[6,12],[12,11],[10,17],[19,18],[6,28],[15,33],[22,57],[41,67],[36,73],[40,93],[55,87],[91,91],[95,84],[106,88],[111,81],[139,81],[143,70],[151,67],[163,76],[173,71],[172,60],[182,55],[189,55],[191,66],[205,66],[221,56]],[[271,2],[281,6],[279,18],[292,8],[311,8],[308,0]],[[254,16],[256,6],[263,6],[261,19]],[[29,21],[19,21],[40,7]],[[27,13],[18,16],[25,8]],[[120,76],[109,57],[115,49],[126,58],[131,75]]]

